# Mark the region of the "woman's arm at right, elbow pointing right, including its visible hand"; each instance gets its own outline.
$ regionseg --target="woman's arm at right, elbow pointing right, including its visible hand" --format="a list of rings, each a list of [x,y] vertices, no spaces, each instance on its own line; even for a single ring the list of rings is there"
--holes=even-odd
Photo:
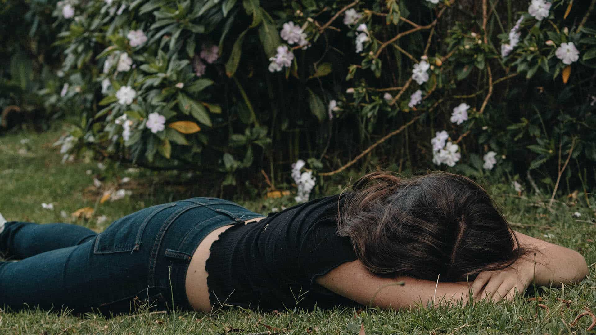
[[[578,252],[557,246],[521,232],[511,231],[523,247],[535,249],[501,271],[480,272],[472,285],[475,299],[513,299],[534,283],[537,286],[561,286],[578,283],[588,275],[586,260]]]

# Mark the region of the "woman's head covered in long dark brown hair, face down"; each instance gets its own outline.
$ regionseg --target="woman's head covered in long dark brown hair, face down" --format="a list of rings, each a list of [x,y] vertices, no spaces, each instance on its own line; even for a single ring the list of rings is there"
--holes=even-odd
[[[472,280],[527,253],[516,248],[486,191],[451,173],[408,179],[370,173],[356,181],[339,213],[339,234],[378,275]]]

